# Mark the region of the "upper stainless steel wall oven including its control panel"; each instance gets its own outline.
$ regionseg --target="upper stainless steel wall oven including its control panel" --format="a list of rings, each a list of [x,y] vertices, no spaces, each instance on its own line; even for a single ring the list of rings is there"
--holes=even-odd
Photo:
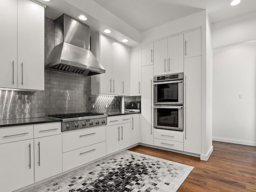
[[[154,105],[183,105],[183,73],[154,77]]]

